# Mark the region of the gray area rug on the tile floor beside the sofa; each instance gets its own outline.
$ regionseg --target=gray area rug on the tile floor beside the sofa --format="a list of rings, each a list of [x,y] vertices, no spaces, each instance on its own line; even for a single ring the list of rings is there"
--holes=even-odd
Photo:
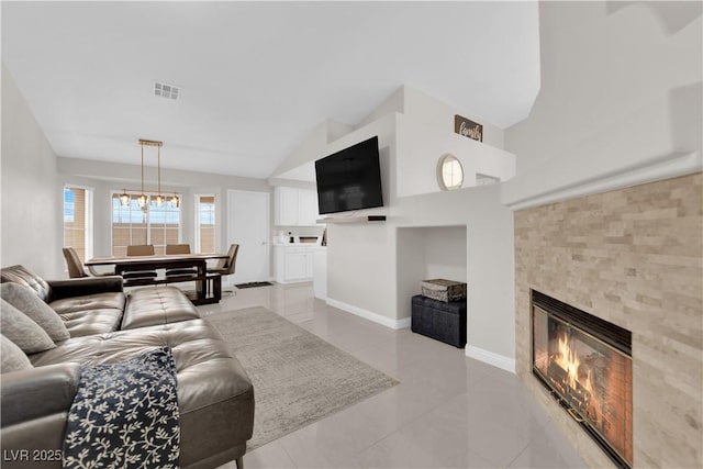
[[[265,308],[205,317],[254,383],[250,451],[398,381]]]

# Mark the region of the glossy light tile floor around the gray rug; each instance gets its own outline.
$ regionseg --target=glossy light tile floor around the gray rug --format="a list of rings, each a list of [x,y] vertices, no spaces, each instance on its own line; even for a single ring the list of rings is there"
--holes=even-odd
[[[400,384],[248,453],[246,469],[585,467],[514,375],[327,306],[310,283],[237,290],[199,310],[258,305]]]

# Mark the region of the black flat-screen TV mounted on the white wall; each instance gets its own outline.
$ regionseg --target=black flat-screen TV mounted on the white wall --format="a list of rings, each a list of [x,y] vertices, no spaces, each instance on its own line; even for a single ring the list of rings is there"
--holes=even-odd
[[[378,136],[315,161],[320,213],[383,206]]]

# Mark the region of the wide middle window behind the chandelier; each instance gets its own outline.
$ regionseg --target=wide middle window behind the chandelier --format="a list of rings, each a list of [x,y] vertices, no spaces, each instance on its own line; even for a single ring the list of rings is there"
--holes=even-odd
[[[112,255],[126,256],[127,246],[153,244],[156,254],[165,254],[167,244],[178,244],[180,239],[180,209],[165,202],[156,204],[156,198],[148,196],[147,204],[140,208],[135,198],[124,206],[120,194],[112,194]]]

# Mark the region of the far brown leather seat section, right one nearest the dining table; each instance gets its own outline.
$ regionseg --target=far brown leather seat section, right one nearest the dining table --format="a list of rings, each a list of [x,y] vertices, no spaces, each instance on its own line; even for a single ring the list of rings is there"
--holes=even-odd
[[[198,310],[176,287],[142,288],[130,292],[121,328],[133,330],[196,319],[200,319]]]

